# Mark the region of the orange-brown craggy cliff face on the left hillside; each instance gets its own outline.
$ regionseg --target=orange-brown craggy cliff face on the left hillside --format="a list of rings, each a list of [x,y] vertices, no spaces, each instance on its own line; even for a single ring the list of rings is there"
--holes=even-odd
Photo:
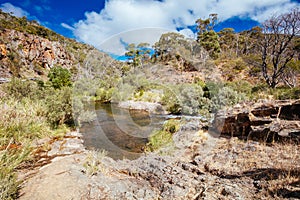
[[[74,56],[58,41],[22,33],[16,30],[0,31],[0,76],[21,74],[43,75],[53,66],[71,68]]]

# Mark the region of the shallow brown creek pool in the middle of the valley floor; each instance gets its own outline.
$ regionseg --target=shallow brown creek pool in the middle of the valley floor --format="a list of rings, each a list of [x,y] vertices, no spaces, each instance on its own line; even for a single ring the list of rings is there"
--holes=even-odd
[[[97,120],[81,127],[88,149],[105,150],[114,159],[136,159],[143,155],[149,135],[162,127],[166,116],[115,104],[95,104]]]

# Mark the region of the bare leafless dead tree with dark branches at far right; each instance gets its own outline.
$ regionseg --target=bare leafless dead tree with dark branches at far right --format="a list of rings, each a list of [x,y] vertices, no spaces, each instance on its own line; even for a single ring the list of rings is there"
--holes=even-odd
[[[295,56],[294,40],[300,34],[299,9],[273,16],[262,24],[261,68],[267,84],[275,88]]]

